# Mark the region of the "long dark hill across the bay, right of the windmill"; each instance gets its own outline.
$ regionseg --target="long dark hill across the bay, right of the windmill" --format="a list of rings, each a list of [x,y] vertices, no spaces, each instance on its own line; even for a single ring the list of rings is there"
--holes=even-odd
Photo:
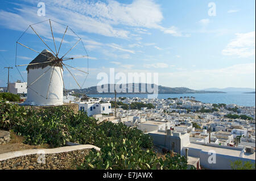
[[[88,87],[86,89],[72,89],[69,91],[75,91],[76,93],[82,93],[82,94],[114,94],[114,92],[110,92],[110,86],[114,86],[114,85],[105,85],[108,86],[108,90],[103,93],[99,93],[97,91],[97,86],[93,86],[93,87]],[[121,87],[121,85],[118,85],[119,87]],[[145,89],[142,89],[142,86],[146,87]],[[150,86],[150,85],[148,85]],[[154,85],[151,84],[151,87],[153,87]],[[103,85],[101,86],[103,89]],[[128,87],[130,87],[130,89],[132,89],[133,91],[128,91]],[[134,91],[134,87],[138,87],[137,92]],[[123,93],[126,92],[126,93]],[[148,94],[147,91],[147,84],[142,84],[142,83],[129,83],[126,84],[126,90],[122,89],[122,92],[120,92],[119,94]],[[199,90],[192,90],[192,89],[188,89],[187,87],[164,87],[164,86],[158,86],[158,94],[195,94],[195,93],[225,93],[222,91],[199,91]]]

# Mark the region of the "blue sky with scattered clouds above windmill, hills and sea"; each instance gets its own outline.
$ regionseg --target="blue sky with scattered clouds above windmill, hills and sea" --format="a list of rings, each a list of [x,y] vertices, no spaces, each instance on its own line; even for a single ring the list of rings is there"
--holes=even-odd
[[[38,16],[38,3],[46,16]],[[216,16],[209,16],[210,2]],[[7,69],[15,66],[16,40],[30,24],[52,19],[67,24],[80,37],[89,54],[89,76],[84,87],[96,86],[97,74],[159,73],[159,85],[204,89],[209,87],[255,88],[255,1],[82,1],[20,0],[0,2],[0,86],[6,86]],[[48,22],[46,22],[48,23]],[[36,27],[38,26],[38,27]],[[47,24],[35,28],[50,47]],[[56,29],[54,29],[56,28]],[[53,23],[56,39],[65,27]],[[76,43],[67,33],[63,53]],[[20,40],[39,52],[46,47],[33,32]],[[60,41],[56,41],[59,44]],[[79,43],[69,56],[84,55]],[[28,64],[37,53],[18,47],[18,64]],[[87,61],[67,61],[87,70]],[[26,67],[20,68],[26,79]],[[10,70],[10,81],[21,79]],[[73,70],[82,83],[85,74]],[[77,88],[64,72],[66,88]]]

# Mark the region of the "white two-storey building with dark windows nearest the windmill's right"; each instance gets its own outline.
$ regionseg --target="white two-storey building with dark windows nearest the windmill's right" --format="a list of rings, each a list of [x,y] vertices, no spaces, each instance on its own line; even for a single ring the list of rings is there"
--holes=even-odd
[[[88,116],[98,115],[98,114],[109,114],[112,112],[111,103],[100,103],[95,102],[80,102],[79,110],[86,111]]]

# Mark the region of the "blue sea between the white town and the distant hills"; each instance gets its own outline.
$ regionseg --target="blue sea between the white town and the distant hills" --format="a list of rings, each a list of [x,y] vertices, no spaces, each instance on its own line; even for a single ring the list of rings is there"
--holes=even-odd
[[[92,94],[88,95],[94,98],[114,98],[114,94]],[[167,98],[180,98],[184,96],[193,96],[196,100],[202,103],[224,103],[224,104],[237,104],[238,106],[255,107],[255,94],[246,94],[244,92],[230,91],[226,93],[205,93],[205,94],[158,94],[154,98],[167,99]],[[152,98],[148,94],[117,94],[117,97],[126,98]]]

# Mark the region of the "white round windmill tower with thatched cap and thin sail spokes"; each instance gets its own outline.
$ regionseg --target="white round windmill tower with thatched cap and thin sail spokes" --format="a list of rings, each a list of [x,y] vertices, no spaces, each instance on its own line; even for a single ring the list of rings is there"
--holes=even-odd
[[[28,47],[27,45],[24,45],[23,43],[20,43],[19,40],[16,42],[16,47],[19,44],[19,45],[22,45],[22,47],[25,47],[29,50],[32,50],[33,52],[38,53],[38,56],[36,56],[34,58],[34,60],[32,60],[29,64],[16,65],[16,61],[17,61],[17,50],[16,50],[15,66],[16,66],[17,70],[19,71],[18,67],[20,67],[20,66],[27,66],[27,68],[26,68],[26,70],[27,70],[27,100],[26,100],[26,102],[24,102],[24,104],[28,104],[31,106],[59,106],[59,105],[63,104],[63,89],[65,91],[64,80],[63,80],[64,68],[73,77],[73,79],[75,80],[77,85],[80,87],[80,89],[82,89],[82,86],[80,86],[80,84],[77,82],[77,79],[74,77],[74,75],[71,73],[71,70],[69,70],[69,69],[72,68],[72,69],[75,69],[76,71],[85,73],[86,76],[84,76],[85,77],[84,82],[88,76],[88,72],[85,72],[84,70],[80,70],[80,69],[74,68],[73,66],[63,63],[63,61],[73,60],[75,58],[86,58],[87,64],[88,64],[88,54],[87,54],[83,44],[82,44],[82,47],[85,51],[85,55],[80,55],[79,57],[65,58],[65,56],[73,48],[76,47],[76,45],[79,43],[79,41],[81,41],[81,38],[79,36],[77,36],[76,33],[70,29],[73,33],[75,33],[75,35],[79,39],[77,40],[76,44],[73,45],[73,47],[71,47],[68,50],[68,52],[64,53],[63,56],[59,56],[61,44],[63,44],[65,33],[67,33],[67,30],[69,27],[67,26],[67,28],[65,28],[64,35],[60,42],[59,50],[57,51],[56,43],[55,43],[55,39],[53,36],[53,31],[52,31],[52,24],[51,24],[51,21],[53,21],[53,20],[47,20],[47,21],[49,21],[49,25],[51,27],[52,39],[53,39],[53,43],[54,43],[56,52],[52,51],[52,49],[46,44],[46,42],[38,34],[38,32],[35,31],[35,29],[32,27],[32,25],[30,25],[28,28],[31,28],[35,32],[35,34],[39,37],[39,39],[44,43],[44,45],[46,45],[46,47],[49,50],[44,49],[42,52],[38,52],[37,50],[34,50],[34,49]],[[46,21],[44,21],[44,22],[46,22]],[[39,23],[36,23],[36,24],[39,24]],[[28,28],[27,28],[27,30],[28,30]],[[24,35],[24,33],[23,33],[23,35]],[[69,67],[69,69],[68,69],[68,67]],[[20,71],[19,71],[19,73],[20,73]],[[22,76],[21,73],[20,73],[20,75]],[[24,81],[24,79],[23,79],[23,81]],[[84,85],[84,83],[82,85]],[[67,95],[66,92],[65,92],[65,95]]]

